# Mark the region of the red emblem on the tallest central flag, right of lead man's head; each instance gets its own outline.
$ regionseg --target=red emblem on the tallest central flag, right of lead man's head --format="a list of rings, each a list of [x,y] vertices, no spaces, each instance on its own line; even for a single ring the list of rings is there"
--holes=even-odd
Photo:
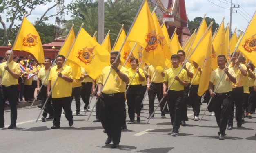
[[[147,42],[147,46],[145,48],[146,52],[156,49],[158,42],[156,31],[153,30],[152,33],[147,33],[145,41]]]

